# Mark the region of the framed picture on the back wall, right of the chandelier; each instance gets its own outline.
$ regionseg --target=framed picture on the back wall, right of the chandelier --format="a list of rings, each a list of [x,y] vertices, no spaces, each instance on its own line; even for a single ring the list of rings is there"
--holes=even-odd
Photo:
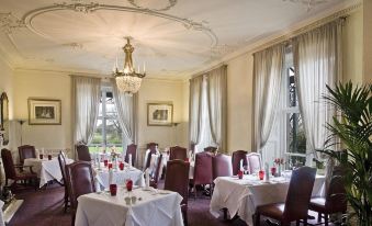
[[[172,123],[172,103],[147,103],[147,125],[171,126]]]

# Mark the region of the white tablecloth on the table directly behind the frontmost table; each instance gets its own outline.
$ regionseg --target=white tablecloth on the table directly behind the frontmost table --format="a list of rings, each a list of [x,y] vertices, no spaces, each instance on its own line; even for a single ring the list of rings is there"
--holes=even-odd
[[[98,191],[103,190],[103,189],[109,189],[109,169],[105,167],[101,167],[101,170],[98,168],[94,168],[94,173],[95,173],[95,188]],[[131,179],[134,184],[138,187],[145,187],[145,179],[144,179],[144,173],[134,168],[134,167],[128,167],[126,166],[124,170],[120,169],[114,169],[113,170],[113,183],[116,183],[119,185],[124,185],[125,181]]]

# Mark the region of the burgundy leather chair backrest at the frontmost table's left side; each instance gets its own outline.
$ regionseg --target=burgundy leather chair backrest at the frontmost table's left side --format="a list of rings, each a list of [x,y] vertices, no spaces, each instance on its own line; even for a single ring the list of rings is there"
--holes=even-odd
[[[77,161],[66,165],[65,170],[70,204],[72,210],[76,210],[80,195],[95,192],[92,167],[90,162]]]

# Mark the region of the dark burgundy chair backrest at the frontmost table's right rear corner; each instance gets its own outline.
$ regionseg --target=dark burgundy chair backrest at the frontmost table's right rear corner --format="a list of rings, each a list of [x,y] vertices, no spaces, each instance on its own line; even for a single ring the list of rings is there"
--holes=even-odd
[[[182,204],[188,204],[190,163],[179,159],[167,162],[165,189],[178,192]]]

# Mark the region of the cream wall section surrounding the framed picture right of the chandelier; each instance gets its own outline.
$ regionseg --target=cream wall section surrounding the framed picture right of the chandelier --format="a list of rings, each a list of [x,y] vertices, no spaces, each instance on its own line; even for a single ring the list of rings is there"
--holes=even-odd
[[[156,142],[160,148],[173,145],[187,146],[185,129],[188,111],[185,100],[184,81],[162,79],[145,79],[138,92],[138,146],[144,148],[147,143]],[[148,126],[147,103],[171,102],[173,103],[173,122],[177,126]]]

